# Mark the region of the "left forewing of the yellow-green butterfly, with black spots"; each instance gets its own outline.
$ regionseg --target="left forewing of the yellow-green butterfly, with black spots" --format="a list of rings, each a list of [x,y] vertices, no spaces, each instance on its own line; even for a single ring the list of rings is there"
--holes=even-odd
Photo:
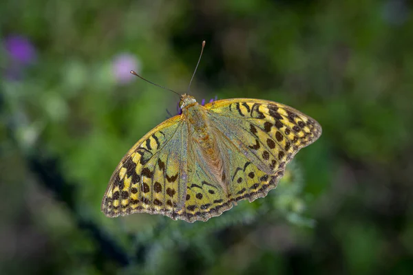
[[[177,219],[187,187],[187,129],[177,115],[136,142],[109,180],[102,212],[108,217],[147,212]]]

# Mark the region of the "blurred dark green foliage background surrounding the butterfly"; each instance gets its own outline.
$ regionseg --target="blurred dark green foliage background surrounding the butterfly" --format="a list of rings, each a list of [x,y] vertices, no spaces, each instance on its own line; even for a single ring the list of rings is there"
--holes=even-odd
[[[0,3],[1,274],[413,274],[410,1]],[[207,223],[100,212],[178,98],[262,98],[321,138]]]

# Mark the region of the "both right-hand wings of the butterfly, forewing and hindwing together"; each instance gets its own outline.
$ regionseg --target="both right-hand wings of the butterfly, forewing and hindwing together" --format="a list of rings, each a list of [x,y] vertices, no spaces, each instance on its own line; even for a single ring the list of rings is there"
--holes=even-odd
[[[225,170],[231,201],[264,197],[299,149],[321,135],[317,121],[277,102],[237,98],[205,108],[229,156]]]

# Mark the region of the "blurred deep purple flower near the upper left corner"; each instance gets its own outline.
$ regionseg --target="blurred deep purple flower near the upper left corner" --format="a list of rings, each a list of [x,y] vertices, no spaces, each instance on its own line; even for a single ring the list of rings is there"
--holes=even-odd
[[[8,56],[17,65],[29,65],[36,60],[36,49],[29,39],[21,35],[10,35],[3,41]]]

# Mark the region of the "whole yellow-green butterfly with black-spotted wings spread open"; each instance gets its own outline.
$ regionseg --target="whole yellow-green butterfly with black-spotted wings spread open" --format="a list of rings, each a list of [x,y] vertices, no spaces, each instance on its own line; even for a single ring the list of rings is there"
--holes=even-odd
[[[179,107],[116,167],[101,205],[107,217],[146,212],[207,221],[237,201],[265,197],[299,149],[321,135],[316,120],[269,100],[202,106],[183,94]]]

